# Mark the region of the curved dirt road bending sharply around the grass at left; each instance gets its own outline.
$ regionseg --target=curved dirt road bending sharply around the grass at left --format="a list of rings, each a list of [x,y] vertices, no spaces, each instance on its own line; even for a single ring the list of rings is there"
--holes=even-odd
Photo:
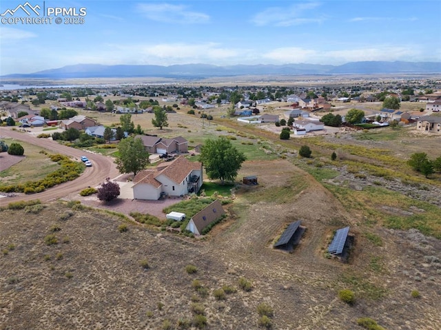
[[[15,202],[17,200],[31,200],[37,198],[41,201],[54,200],[68,196],[74,192],[79,192],[81,189],[88,186],[94,187],[100,183],[103,183],[105,178],[115,178],[119,175],[119,171],[116,169],[116,165],[110,157],[85,153],[83,150],[66,147],[65,145],[60,145],[59,143],[47,138],[37,138],[25,132],[13,131],[6,127],[0,127],[0,137],[15,138],[19,141],[38,145],[39,147],[48,149],[50,152],[72,156],[78,161],[80,161],[81,156],[85,155],[90,159],[90,161],[92,161],[93,164],[92,167],[86,167],[83,174],[81,174],[81,176],[76,178],[74,181],[62,183],[61,185],[52,187],[39,194],[23,194],[21,196],[0,198],[0,206],[7,205],[8,203]]]

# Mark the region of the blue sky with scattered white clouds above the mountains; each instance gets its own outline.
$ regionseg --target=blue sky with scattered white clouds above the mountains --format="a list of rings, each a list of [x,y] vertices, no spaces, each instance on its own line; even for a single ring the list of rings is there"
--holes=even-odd
[[[1,0],[0,14],[25,2]],[[43,8],[42,0],[28,2]],[[0,75],[78,63],[441,61],[438,0],[46,0],[44,6],[87,13],[78,25],[2,21]],[[19,9],[1,18],[8,17],[28,16]]]

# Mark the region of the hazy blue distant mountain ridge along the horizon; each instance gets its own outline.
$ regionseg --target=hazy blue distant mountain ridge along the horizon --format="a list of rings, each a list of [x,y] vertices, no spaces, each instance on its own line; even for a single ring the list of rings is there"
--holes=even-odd
[[[101,65],[76,64],[30,74],[8,74],[1,78],[209,78],[215,76],[309,75],[309,74],[435,74],[441,73],[441,62],[360,61],[343,65],[290,63],[283,65]]]

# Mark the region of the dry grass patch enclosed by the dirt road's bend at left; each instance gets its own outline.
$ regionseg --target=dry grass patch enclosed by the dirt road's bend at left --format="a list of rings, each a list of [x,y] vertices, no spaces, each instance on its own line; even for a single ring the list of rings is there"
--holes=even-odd
[[[14,142],[8,138],[3,141],[7,145]],[[0,186],[17,185],[26,181],[38,181],[61,167],[59,164],[51,161],[45,154],[41,154],[40,152],[43,150],[41,147],[29,145],[22,141],[20,144],[25,150],[25,158],[23,158],[23,161],[0,172]]]

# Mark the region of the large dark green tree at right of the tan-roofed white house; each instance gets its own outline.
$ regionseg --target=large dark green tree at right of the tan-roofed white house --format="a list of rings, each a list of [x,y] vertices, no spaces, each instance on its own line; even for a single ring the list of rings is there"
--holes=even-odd
[[[224,182],[234,181],[246,157],[231,141],[221,136],[216,140],[209,138],[205,141],[199,159],[209,178]]]

